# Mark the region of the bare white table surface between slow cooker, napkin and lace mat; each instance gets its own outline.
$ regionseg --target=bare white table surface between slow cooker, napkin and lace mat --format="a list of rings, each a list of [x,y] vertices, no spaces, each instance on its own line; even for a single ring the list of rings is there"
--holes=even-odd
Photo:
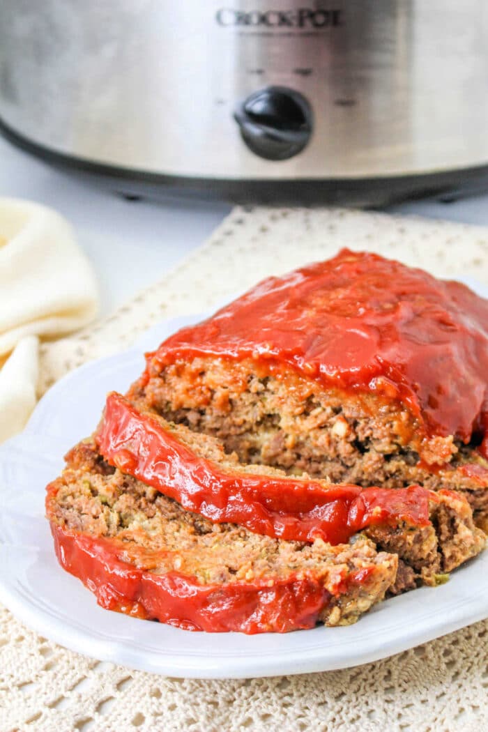
[[[89,179],[50,167],[3,138],[0,195],[45,203],[71,221],[97,274],[102,314],[162,277],[230,211],[222,201],[127,201]],[[388,210],[488,225],[488,193],[454,203],[416,201]]]

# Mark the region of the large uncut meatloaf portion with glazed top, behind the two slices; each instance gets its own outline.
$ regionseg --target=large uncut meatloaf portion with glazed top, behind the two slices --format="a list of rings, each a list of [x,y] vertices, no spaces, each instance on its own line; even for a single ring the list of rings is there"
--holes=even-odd
[[[342,250],[165,340],[129,397],[243,464],[461,490],[487,526],[487,373],[486,300]]]

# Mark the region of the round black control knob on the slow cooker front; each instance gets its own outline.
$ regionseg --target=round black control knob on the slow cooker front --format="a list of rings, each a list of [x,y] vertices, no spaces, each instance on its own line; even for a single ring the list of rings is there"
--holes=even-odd
[[[266,160],[288,160],[312,135],[312,110],[298,91],[267,86],[241,102],[234,113],[249,150]]]

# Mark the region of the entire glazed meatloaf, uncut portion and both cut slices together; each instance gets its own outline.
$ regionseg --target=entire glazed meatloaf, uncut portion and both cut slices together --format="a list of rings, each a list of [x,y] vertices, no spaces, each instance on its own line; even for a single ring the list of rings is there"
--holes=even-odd
[[[488,303],[343,250],[146,356],[48,486],[105,608],[189,630],[349,624],[488,528]],[[394,489],[394,490],[392,490]]]

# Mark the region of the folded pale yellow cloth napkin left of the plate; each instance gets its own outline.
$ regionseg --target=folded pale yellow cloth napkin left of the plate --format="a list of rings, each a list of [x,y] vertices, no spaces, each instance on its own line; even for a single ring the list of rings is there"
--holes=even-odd
[[[0,198],[0,442],[36,403],[38,337],[57,337],[97,313],[97,283],[72,228],[52,209]]]

